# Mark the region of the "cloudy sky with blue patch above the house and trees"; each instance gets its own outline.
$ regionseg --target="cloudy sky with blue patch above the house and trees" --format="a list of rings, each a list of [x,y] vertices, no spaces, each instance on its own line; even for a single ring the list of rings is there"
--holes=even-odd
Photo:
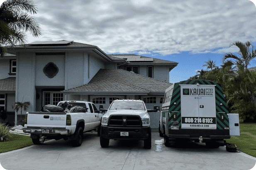
[[[34,0],[42,35],[28,42],[73,40],[107,54],[133,53],[178,62],[170,82],[186,80],[205,61],[222,64],[234,41],[256,46],[250,0]],[[256,3],[256,2],[255,2]],[[251,66],[256,66],[256,61]],[[206,69],[206,67],[204,67]]]

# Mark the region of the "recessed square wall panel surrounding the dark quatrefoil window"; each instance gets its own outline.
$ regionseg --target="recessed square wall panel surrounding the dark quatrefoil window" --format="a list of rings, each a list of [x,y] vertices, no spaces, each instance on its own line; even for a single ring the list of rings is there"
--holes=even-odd
[[[53,77],[48,78],[44,74],[44,67],[49,62],[56,64],[59,72]],[[65,85],[65,56],[52,55],[52,56],[36,56],[36,85],[37,86],[64,86]]]

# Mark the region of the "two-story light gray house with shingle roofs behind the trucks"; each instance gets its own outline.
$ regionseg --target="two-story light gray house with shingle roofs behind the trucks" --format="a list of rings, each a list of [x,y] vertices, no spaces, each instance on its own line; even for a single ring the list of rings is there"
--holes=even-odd
[[[161,106],[164,92],[171,85],[169,72],[178,65],[134,54],[108,55],[98,46],[65,40],[37,41],[26,44],[26,48],[17,45],[7,49],[10,56],[0,58],[0,94],[5,95],[7,112],[12,111],[12,102],[22,100],[31,103],[27,111],[39,111],[61,100],[91,101],[97,108],[100,104],[108,108],[116,99],[144,100],[152,109]],[[4,91],[8,90],[7,83],[12,83],[12,89]],[[158,127],[158,114],[150,115],[153,128]],[[13,115],[16,123],[17,113]]]

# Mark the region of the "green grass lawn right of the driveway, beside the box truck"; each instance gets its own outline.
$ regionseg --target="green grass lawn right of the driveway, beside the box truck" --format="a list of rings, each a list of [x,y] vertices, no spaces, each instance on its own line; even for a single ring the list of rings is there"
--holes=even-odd
[[[225,139],[236,144],[242,152],[256,157],[256,123],[240,123],[240,136]]]

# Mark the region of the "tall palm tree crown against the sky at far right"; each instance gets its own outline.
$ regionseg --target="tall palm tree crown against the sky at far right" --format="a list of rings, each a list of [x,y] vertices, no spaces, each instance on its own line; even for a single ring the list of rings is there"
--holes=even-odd
[[[233,53],[225,53],[222,58],[222,63],[224,63],[227,58],[233,58],[236,66],[242,66],[240,69],[247,70],[250,61],[256,57],[256,49],[254,50],[254,46],[249,41],[246,41],[245,43],[236,41],[229,45],[229,47],[231,46],[237,46],[239,48],[239,56],[236,56]],[[250,47],[252,47],[252,49],[250,49]],[[238,67],[236,69],[238,69]]]

